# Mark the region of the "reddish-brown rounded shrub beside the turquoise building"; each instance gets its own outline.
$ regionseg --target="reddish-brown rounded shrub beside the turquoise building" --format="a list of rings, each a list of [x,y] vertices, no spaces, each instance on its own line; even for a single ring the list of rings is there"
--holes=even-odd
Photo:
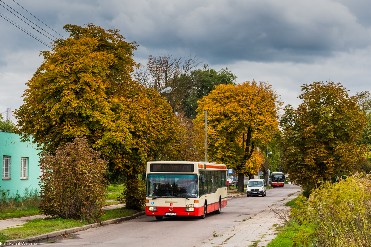
[[[98,220],[105,200],[107,162],[86,137],[76,137],[40,158],[40,212],[61,218]]]

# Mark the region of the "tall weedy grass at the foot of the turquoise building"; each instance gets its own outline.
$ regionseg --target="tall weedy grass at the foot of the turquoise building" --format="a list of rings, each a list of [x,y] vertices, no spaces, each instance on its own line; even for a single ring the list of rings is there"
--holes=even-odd
[[[25,187],[23,193],[10,194],[0,186],[0,219],[39,214],[39,191]]]

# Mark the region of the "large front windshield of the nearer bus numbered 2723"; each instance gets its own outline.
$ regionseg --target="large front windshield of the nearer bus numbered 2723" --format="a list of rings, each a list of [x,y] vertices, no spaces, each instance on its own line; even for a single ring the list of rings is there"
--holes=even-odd
[[[198,197],[196,174],[148,174],[147,197]]]

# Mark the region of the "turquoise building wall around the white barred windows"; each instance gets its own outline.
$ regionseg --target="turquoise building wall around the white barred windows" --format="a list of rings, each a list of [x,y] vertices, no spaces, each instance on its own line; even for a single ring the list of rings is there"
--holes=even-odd
[[[0,130],[1,189],[9,189],[11,195],[15,194],[17,190],[23,194],[25,187],[40,190],[38,185],[40,167],[37,155],[39,151],[36,148],[36,144],[32,143],[32,137],[30,141],[22,142],[18,134]],[[11,156],[10,180],[3,179],[3,156]],[[21,179],[21,157],[28,158],[28,179]]]

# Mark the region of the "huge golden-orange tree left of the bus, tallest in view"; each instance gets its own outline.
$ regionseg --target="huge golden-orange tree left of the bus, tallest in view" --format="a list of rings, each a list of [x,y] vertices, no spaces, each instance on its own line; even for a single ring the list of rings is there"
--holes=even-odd
[[[68,39],[58,39],[27,83],[24,104],[16,110],[18,133],[33,135],[53,153],[76,136],[106,156],[111,174],[127,177],[126,207],[140,208],[138,174],[173,138],[175,117],[157,91],[132,80],[137,45],[118,30],[66,24]]]

